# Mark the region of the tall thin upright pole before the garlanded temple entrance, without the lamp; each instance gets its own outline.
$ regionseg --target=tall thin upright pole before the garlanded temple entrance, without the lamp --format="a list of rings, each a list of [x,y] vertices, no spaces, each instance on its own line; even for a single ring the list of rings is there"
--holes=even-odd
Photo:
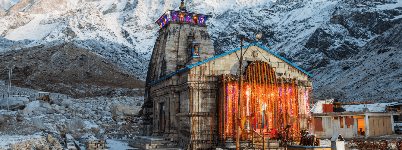
[[[240,62],[239,62],[239,99],[238,99],[238,107],[237,107],[237,121],[241,120],[240,118],[240,107],[241,107],[241,97],[242,97],[242,62],[243,62],[243,37],[241,38],[242,43],[240,45]],[[237,130],[236,130],[236,150],[239,150],[240,147],[240,126],[237,123]]]

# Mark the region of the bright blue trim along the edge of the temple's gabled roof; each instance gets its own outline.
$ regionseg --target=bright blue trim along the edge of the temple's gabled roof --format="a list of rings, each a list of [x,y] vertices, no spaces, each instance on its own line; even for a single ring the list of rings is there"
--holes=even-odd
[[[270,52],[271,54],[274,54],[275,56],[277,56],[277,57],[281,58],[282,60],[286,61],[287,63],[291,64],[293,67],[296,67],[297,69],[303,71],[303,72],[306,73],[308,76],[310,76],[310,77],[312,76],[311,74],[309,74],[309,73],[307,73],[306,71],[304,71],[303,69],[297,67],[295,64],[289,62],[289,61],[286,60],[285,58],[279,56],[278,54],[272,52],[271,50],[268,50],[268,49],[265,48],[264,46],[261,46],[261,45],[258,44],[258,43],[252,43],[252,44],[250,44],[250,46],[253,46],[253,45],[257,45],[257,46],[263,48],[264,50]],[[248,46],[248,45],[243,46],[243,48],[247,48],[247,46]],[[198,66],[198,65],[200,65],[200,64],[203,64],[203,63],[205,63],[205,62],[209,62],[209,61],[211,61],[211,60],[214,60],[214,59],[216,59],[216,58],[225,56],[225,55],[227,55],[227,54],[231,54],[231,53],[233,53],[233,52],[235,52],[235,51],[238,51],[238,50],[240,50],[240,48],[236,48],[236,49],[231,50],[231,51],[229,51],[229,52],[226,52],[226,53],[220,54],[220,55],[218,55],[218,56],[215,56],[215,57],[212,57],[212,58],[203,60],[203,61],[201,61],[201,62],[198,62],[197,64],[193,64],[193,65],[187,66],[186,68],[180,69],[180,70],[178,70],[178,71],[176,71],[176,72],[173,72],[173,73],[171,73],[171,74],[168,74],[167,76],[164,76],[163,78],[160,78],[159,80],[156,80],[156,81],[154,81],[154,82],[151,82],[150,85],[155,84],[155,83],[157,83],[157,82],[159,82],[159,81],[162,81],[162,80],[164,80],[164,79],[166,79],[166,78],[168,78],[168,77],[170,77],[170,76],[173,76],[173,75],[175,75],[175,74],[178,74],[178,73],[180,73],[180,72],[183,72],[184,70],[187,70],[187,69],[189,69],[189,68],[193,68],[193,67]]]

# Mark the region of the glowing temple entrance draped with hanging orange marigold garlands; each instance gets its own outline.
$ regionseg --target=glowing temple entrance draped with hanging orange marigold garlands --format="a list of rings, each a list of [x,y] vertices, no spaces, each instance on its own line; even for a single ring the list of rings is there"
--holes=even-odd
[[[308,128],[308,121],[302,116],[308,112],[308,91],[298,90],[294,78],[277,78],[267,62],[250,63],[242,77],[241,128],[254,130],[264,137],[271,137],[271,131],[281,130],[290,124],[294,131]],[[222,74],[219,78],[218,114],[219,138],[236,137],[238,111],[239,76]]]

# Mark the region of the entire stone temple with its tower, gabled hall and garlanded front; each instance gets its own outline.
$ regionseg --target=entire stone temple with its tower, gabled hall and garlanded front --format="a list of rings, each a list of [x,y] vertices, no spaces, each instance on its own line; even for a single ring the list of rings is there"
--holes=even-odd
[[[187,150],[233,147],[225,140],[236,139],[238,111],[243,120],[239,122],[240,138],[257,149],[263,149],[258,145],[264,145],[273,131],[286,125],[292,132],[313,130],[310,74],[252,43],[243,46],[240,78],[241,48],[215,56],[205,24],[212,16],[187,11],[183,1],[179,8],[166,10],[156,21],[161,28],[148,66],[143,122],[131,146]]]

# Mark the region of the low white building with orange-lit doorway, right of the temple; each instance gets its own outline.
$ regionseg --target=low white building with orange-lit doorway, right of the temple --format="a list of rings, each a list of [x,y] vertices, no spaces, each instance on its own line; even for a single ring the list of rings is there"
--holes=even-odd
[[[331,138],[340,133],[344,138],[367,138],[395,133],[393,115],[390,111],[350,111],[314,114],[315,134]]]

